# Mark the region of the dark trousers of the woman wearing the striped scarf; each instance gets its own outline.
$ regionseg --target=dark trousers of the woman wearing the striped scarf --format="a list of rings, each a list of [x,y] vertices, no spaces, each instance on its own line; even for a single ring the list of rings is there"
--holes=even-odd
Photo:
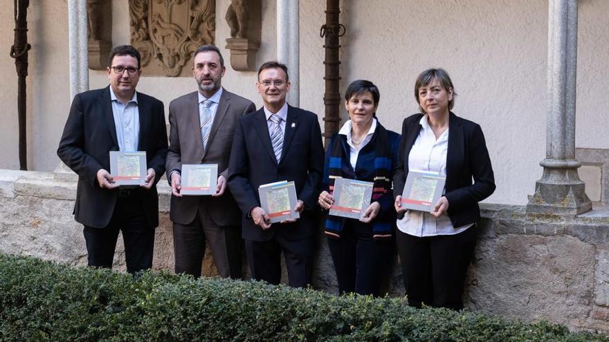
[[[379,296],[381,283],[388,276],[393,244],[393,240],[374,241],[370,225],[347,219],[340,238],[328,238],[338,292]]]

